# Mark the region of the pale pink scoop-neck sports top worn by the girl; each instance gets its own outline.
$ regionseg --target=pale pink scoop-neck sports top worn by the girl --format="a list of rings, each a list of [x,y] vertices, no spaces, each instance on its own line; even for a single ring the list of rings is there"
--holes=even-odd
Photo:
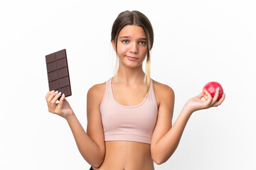
[[[158,114],[152,79],[144,101],[137,106],[118,103],[114,99],[111,79],[107,80],[100,113],[105,141],[126,140],[150,144]]]

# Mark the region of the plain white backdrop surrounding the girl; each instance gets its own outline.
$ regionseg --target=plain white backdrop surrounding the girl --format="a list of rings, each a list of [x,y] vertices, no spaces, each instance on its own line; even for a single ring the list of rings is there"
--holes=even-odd
[[[155,169],[256,169],[255,8],[248,0],[1,1],[0,169],[90,168],[65,119],[48,113],[45,55],[67,50],[67,100],[86,128],[87,91],[113,76],[110,32],[124,10],[153,25],[151,78],[175,91],[173,123],[208,81],[227,94],[222,106],[193,113],[174,155]]]

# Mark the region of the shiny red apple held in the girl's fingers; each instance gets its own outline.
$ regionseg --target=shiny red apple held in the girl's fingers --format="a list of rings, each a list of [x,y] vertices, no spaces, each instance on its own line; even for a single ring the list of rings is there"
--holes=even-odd
[[[208,84],[206,84],[203,87],[203,97],[206,98],[206,101],[208,99],[206,91],[208,91],[210,96],[212,96],[214,98],[217,88],[220,88],[220,90],[219,90],[220,93],[219,93],[218,100],[217,100],[217,101],[219,101],[220,98],[223,96],[223,88],[218,82],[210,81],[210,82],[208,82]]]

